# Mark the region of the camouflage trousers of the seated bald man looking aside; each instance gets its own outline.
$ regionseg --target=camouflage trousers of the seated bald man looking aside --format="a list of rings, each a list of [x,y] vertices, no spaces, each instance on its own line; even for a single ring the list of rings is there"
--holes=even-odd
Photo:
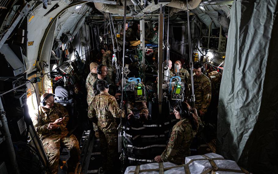
[[[42,140],[42,145],[49,159],[51,174],[58,173],[60,146],[66,147],[70,150],[71,157],[67,161],[68,172],[74,172],[76,164],[80,160],[79,143],[74,135],[64,138],[60,138],[60,135],[52,135]]]

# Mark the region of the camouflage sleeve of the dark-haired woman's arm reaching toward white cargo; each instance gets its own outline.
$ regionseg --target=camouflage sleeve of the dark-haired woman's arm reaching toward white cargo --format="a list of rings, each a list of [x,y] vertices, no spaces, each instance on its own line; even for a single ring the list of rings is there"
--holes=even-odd
[[[184,140],[190,138],[187,138],[188,135],[190,135],[190,130],[187,126],[179,126],[177,129],[172,130],[166,149],[161,154],[161,159],[163,162],[172,160],[172,158],[178,152],[178,148],[181,146],[181,144],[185,143]]]

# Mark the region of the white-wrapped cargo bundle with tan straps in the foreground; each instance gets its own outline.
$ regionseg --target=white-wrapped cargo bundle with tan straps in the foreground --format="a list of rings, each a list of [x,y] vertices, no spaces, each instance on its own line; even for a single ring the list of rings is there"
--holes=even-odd
[[[200,174],[211,173],[248,173],[240,168],[235,161],[225,160],[224,157],[216,153],[196,155],[185,158],[184,165],[176,165],[171,162],[149,163],[138,166],[129,166],[124,174]]]

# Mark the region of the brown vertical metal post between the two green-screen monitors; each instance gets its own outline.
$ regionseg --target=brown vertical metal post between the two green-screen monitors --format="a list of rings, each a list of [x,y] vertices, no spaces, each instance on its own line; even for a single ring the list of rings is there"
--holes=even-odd
[[[159,34],[158,34],[158,109],[159,114],[162,113],[162,64],[163,64],[163,15],[162,5],[160,5],[159,13]]]

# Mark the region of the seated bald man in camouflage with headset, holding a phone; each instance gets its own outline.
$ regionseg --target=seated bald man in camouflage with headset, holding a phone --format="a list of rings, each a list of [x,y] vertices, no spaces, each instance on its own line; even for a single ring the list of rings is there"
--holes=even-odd
[[[80,150],[76,137],[73,134],[68,135],[66,128],[69,119],[68,111],[61,104],[54,103],[54,97],[49,93],[43,94],[41,101],[45,101],[45,106],[41,103],[33,124],[40,134],[43,148],[49,158],[50,172],[58,173],[60,146],[70,150],[71,157],[67,161],[68,173],[74,172],[80,159]]]

